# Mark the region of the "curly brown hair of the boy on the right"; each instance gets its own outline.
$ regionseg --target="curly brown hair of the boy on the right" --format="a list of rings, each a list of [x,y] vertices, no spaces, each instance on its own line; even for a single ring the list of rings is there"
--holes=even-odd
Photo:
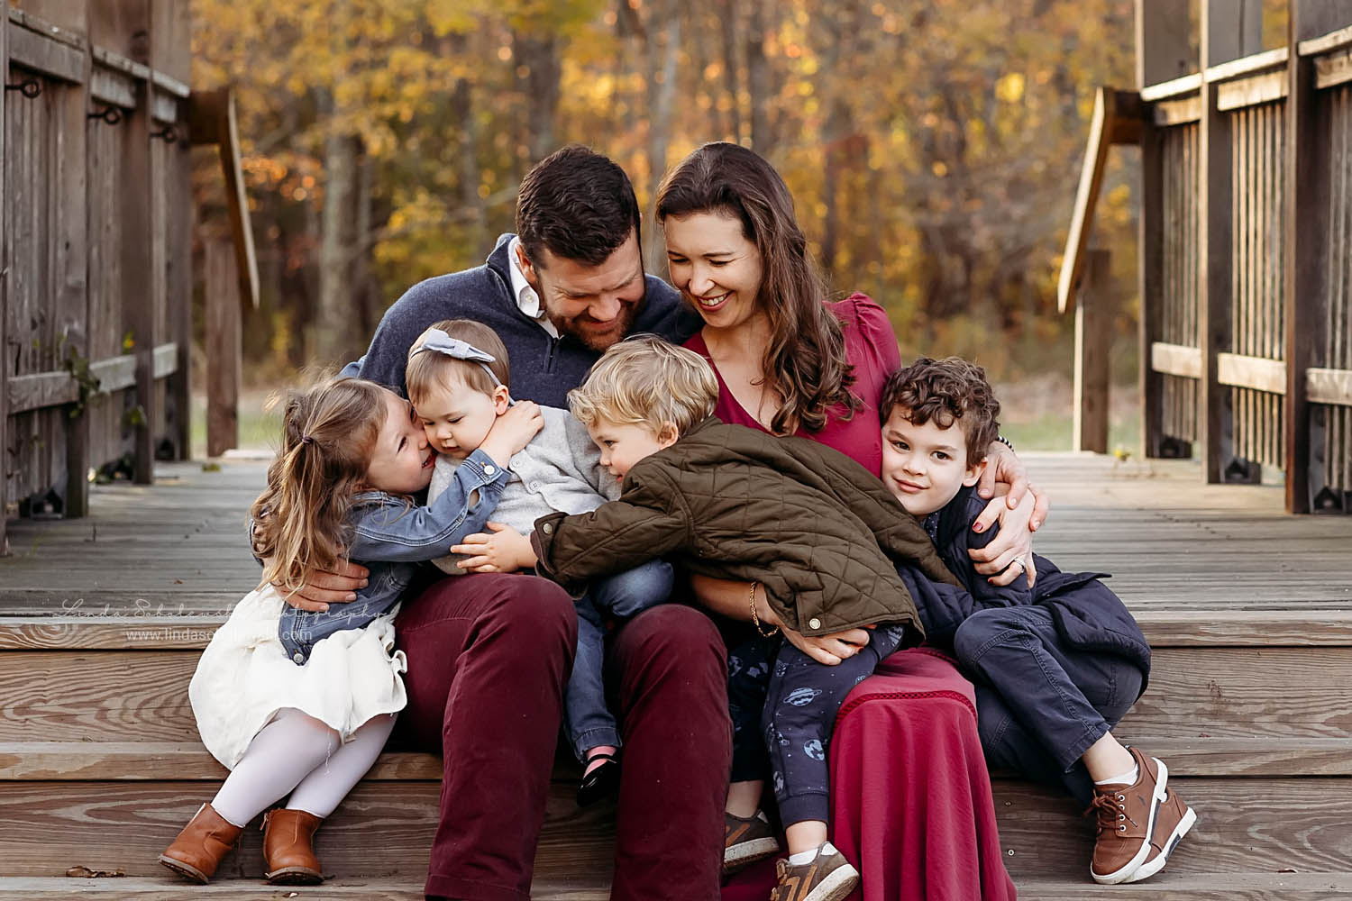
[[[1000,403],[986,381],[986,370],[961,357],[921,357],[888,376],[877,405],[883,424],[898,407],[907,411],[906,419],[915,426],[932,419],[940,428],[948,428],[955,420],[961,423],[968,466],[986,459],[991,442],[1000,432]]]

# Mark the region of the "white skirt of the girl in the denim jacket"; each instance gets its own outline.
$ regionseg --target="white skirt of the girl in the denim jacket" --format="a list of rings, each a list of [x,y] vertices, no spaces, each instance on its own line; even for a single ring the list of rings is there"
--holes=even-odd
[[[316,642],[296,666],[277,638],[285,601],[272,586],[246,594],[197,661],[188,700],[201,743],[234,769],[258,731],[279,711],[296,708],[352,738],[373,716],[407,704],[403,651],[395,650],[393,609],[360,629]]]

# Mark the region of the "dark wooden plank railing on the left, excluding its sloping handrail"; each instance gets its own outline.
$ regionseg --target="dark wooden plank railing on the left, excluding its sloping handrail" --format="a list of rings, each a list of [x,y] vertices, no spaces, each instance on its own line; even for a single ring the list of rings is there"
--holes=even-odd
[[[188,4],[0,9],[0,552],[15,505],[188,455]],[[43,18],[49,16],[49,18]]]

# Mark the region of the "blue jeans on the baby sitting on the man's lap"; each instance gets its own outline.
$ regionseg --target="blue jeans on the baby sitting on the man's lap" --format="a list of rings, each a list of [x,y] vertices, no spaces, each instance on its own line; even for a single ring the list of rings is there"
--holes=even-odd
[[[615,717],[606,706],[602,678],[606,659],[606,619],[627,620],[665,602],[675,574],[671,563],[650,561],[625,573],[595,580],[577,598],[577,655],[564,693],[564,729],[579,761],[602,744],[619,747]]]

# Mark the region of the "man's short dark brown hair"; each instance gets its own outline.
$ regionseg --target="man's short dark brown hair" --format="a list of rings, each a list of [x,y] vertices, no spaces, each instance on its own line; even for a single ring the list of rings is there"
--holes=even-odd
[[[516,192],[516,235],[535,266],[542,250],[599,266],[630,234],[638,235],[634,185],[608,157],[580,145],[541,159]]]

